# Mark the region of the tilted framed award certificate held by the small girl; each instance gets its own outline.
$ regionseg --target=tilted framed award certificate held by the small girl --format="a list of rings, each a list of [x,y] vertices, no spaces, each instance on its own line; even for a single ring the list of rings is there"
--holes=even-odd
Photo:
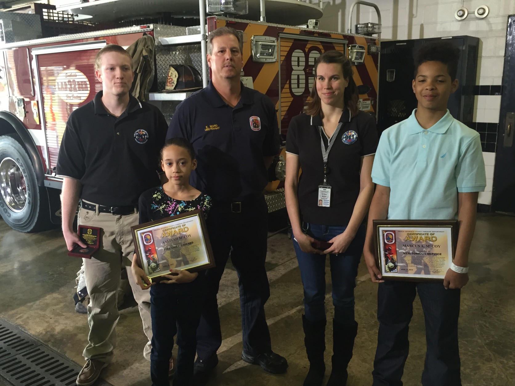
[[[190,272],[214,267],[213,252],[202,210],[131,226],[135,253],[152,280],[170,269]]]

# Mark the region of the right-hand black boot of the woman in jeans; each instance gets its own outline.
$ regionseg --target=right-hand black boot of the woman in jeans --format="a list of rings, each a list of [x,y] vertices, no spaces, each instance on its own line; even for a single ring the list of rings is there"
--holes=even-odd
[[[345,386],[347,383],[347,365],[352,358],[356,335],[356,321],[353,324],[341,324],[333,319],[333,368],[327,386]]]

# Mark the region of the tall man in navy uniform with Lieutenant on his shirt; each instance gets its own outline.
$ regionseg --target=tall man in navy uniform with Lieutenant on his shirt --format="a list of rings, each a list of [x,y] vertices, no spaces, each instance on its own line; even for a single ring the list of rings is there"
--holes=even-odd
[[[239,277],[243,360],[270,373],[284,373],[286,359],[271,350],[264,305],[270,296],[265,270],[268,208],[263,197],[267,167],[279,152],[276,109],[265,95],[244,87],[242,41],[228,27],[208,37],[212,79],[176,110],[167,138],[184,137],[195,148],[198,166],[192,185],[213,199],[208,221],[216,267],[207,270],[209,286],[197,330],[195,374],[209,379],[221,344],[216,294],[229,254]],[[249,236],[252,243],[249,244]]]

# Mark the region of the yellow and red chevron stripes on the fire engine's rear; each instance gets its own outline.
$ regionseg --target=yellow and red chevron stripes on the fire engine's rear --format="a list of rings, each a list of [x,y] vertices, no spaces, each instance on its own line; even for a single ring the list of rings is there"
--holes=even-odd
[[[246,21],[226,20],[220,17],[216,18],[216,27],[228,25],[236,30],[243,31],[243,72],[245,76],[253,79],[255,90],[266,94],[276,105],[278,110],[278,119],[280,122],[281,132],[286,134],[289,121],[295,115],[302,112],[310,94],[310,83],[313,78],[313,65],[310,64],[310,55],[312,51],[321,54],[330,49],[344,51],[346,46],[342,40],[347,40],[347,44],[359,44],[368,48],[368,44],[378,44],[374,39],[362,36],[347,36],[341,33],[321,32],[317,30],[302,30],[288,26],[268,25],[264,23],[249,23]],[[281,33],[297,35],[299,38],[281,37]],[[257,63],[253,62],[251,38],[252,36],[270,36],[278,40],[278,62],[276,63]],[[306,39],[309,38],[309,39]],[[334,41],[321,41],[318,38],[330,38]],[[342,41],[341,43],[338,40]],[[298,57],[292,58],[292,54],[299,50],[304,54],[304,62],[301,71],[303,79],[299,78],[298,73],[293,75],[293,61],[301,60]],[[297,62],[296,64],[302,64]],[[357,85],[365,84],[370,87],[367,94],[360,95],[360,98],[371,98],[377,100],[377,67],[379,58],[377,55],[365,55],[363,64],[354,66],[354,81]],[[300,75],[302,77],[302,74]],[[292,84],[295,81],[296,84]],[[299,87],[302,89],[299,91]],[[294,87],[295,86],[295,87]],[[297,91],[294,93],[294,91]],[[373,104],[370,111],[374,111]]]

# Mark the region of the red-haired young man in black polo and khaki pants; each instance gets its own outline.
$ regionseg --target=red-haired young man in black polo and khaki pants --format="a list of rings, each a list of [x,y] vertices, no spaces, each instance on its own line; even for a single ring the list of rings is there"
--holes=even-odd
[[[66,247],[85,246],[73,229],[79,198],[78,223],[100,227],[102,236],[100,249],[91,259],[83,259],[91,301],[89,344],[83,352],[87,362],[77,377],[80,386],[93,384],[112,359],[120,272],[122,265],[129,266],[130,271],[134,251],[130,227],[139,222],[140,194],[159,184],[157,160],[167,127],[157,108],[129,94],[134,74],[131,57],[122,47],[112,44],[102,48],[95,74],[102,82],[102,91],[70,114],[57,161],[57,174],[64,177],[62,229]],[[150,342],[150,295],[128,276]],[[150,343],[144,355],[149,353]]]

